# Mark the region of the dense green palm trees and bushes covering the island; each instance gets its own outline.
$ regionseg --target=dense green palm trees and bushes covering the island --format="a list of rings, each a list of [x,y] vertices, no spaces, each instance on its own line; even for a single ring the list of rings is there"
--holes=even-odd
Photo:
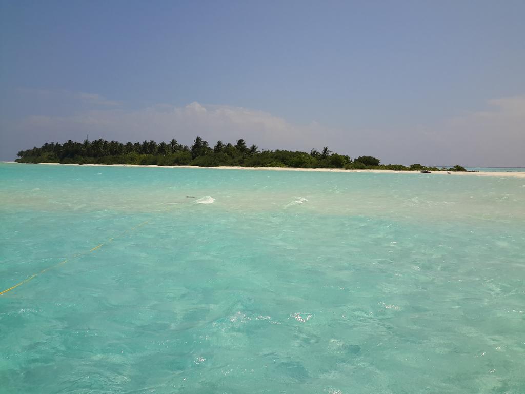
[[[153,140],[140,142],[95,141],[45,143],[18,152],[19,163],[78,163],[78,164],[142,164],[142,165],[200,165],[218,167],[234,165],[242,167],[297,167],[297,168],[345,168],[345,169],[386,169],[386,170],[433,170],[421,164],[405,167],[401,164],[381,164],[372,156],[360,156],[351,160],[348,156],[333,153],[324,147],[320,152],[310,153],[289,150],[260,151],[255,145],[247,146],[239,139],[235,144],[217,141],[212,148],[201,137],[195,138],[191,147],[177,140],[156,143]],[[445,170],[442,168],[441,170]],[[456,165],[448,171],[465,171]]]

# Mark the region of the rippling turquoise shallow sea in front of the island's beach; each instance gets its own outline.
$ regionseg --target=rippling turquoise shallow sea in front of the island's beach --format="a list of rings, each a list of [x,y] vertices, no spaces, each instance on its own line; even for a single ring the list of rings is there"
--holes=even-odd
[[[0,201],[0,291],[68,259],[0,296],[2,392],[525,392],[525,179],[0,164]]]

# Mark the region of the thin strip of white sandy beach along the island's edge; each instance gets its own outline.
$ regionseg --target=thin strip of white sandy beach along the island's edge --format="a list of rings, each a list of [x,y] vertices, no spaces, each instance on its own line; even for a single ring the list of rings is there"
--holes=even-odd
[[[299,172],[343,172],[343,173],[358,173],[358,172],[371,172],[380,174],[420,174],[419,171],[403,171],[403,170],[366,170],[366,169],[354,169],[345,170],[344,168],[293,168],[293,167],[237,167],[237,166],[220,166],[220,167],[199,167],[198,165],[141,165],[141,164],[60,164],[60,163],[17,163],[15,161],[6,161],[2,164],[44,164],[44,165],[79,165],[82,167],[132,167],[132,168],[193,168],[193,169],[214,169],[214,170],[251,170],[251,171],[299,171]],[[465,175],[477,175],[478,177],[509,177],[509,178],[525,178],[525,171],[523,172],[450,172],[447,171],[432,171],[430,174],[441,174],[441,175],[454,175],[454,176],[465,176]]]

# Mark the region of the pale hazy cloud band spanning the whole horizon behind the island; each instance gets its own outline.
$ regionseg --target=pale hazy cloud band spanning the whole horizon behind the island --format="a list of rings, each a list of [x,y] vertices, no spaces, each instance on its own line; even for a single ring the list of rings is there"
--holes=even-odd
[[[90,139],[120,141],[176,138],[185,144],[201,136],[212,146],[218,139],[238,138],[262,149],[309,151],[328,145],[351,157],[374,155],[384,163],[525,166],[525,96],[493,99],[485,110],[434,125],[403,129],[393,125],[386,130],[338,129],[313,121],[297,124],[268,112],[196,101],[184,107],[160,104],[128,110],[95,94],[74,97],[88,106],[79,105],[67,116],[29,116],[12,125],[10,152],[51,140],[82,140],[87,134]]]

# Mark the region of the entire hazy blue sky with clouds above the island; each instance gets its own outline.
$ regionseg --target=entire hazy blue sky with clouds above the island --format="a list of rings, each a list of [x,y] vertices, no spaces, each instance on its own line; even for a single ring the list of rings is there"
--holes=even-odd
[[[0,160],[244,138],[525,167],[525,2],[0,0]]]

